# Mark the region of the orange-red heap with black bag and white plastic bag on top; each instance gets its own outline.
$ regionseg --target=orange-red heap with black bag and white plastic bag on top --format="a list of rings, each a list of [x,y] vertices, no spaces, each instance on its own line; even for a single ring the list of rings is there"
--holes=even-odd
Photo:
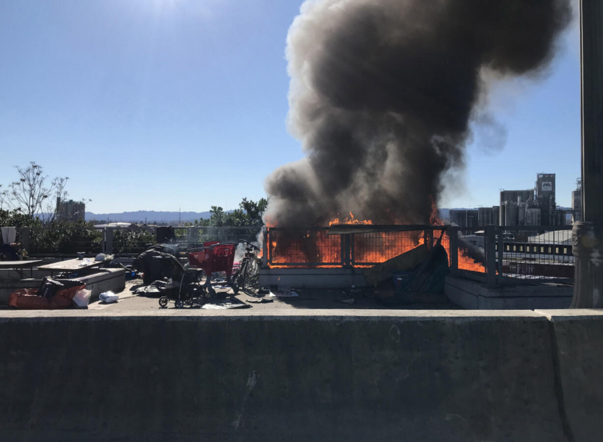
[[[29,310],[71,307],[75,294],[86,288],[78,279],[44,278],[39,288],[21,288],[10,294],[8,305]]]

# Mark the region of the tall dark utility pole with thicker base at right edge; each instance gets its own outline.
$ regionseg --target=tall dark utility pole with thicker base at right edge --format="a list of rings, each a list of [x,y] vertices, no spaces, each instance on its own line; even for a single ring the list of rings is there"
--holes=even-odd
[[[603,4],[580,1],[582,222],[573,225],[572,308],[603,308]]]

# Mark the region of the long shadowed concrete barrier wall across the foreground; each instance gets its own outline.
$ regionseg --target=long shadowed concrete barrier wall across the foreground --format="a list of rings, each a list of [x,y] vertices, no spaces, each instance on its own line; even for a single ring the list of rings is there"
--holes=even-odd
[[[0,317],[3,438],[564,441],[603,430],[598,318],[86,313]]]

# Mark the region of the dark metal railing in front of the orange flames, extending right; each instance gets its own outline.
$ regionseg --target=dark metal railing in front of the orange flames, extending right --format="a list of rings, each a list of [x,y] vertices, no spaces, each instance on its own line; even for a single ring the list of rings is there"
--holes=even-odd
[[[264,229],[268,267],[370,267],[441,235],[450,273],[488,287],[526,282],[573,283],[568,226],[353,226]],[[335,232],[335,233],[333,233]]]

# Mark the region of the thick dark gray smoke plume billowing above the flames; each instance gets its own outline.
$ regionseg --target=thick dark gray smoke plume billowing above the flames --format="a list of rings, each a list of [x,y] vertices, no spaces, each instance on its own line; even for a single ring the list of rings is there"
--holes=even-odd
[[[306,158],[267,178],[265,221],[429,222],[444,173],[463,166],[484,72],[541,72],[570,18],[569,0],[306,1],[286,50]]]

